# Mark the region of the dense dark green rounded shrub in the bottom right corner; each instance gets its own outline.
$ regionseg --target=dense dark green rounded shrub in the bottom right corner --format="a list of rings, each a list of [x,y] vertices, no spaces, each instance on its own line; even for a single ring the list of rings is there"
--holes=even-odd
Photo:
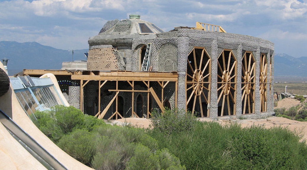
[[[236,169],[301,169],[306,161],[297,160],[304,160],[306,145],[299,139],[281,127],[243,128],[228,143],[224,157]]]

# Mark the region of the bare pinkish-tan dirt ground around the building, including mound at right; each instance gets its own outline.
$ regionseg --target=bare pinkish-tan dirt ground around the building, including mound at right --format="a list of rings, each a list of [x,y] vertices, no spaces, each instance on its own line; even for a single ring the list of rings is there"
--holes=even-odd
[[[276,108],[286,108],[289,109],[292,106],[296,106],[300,104],[300,101],[295,99],[286,98],[278,102],[278,106]],[[242,127],[250,127],[252,125],[263,126],[265,128],[271,127],[286,127],[290,130],[298,132],[302,135],[302,139],[307,140],[307,122],[300,122],[296,120],[290,120],[282,117],[270,116],[266,119],[230,119],[230,120],[211,120],[208,118],[199,118],[200,121],[215,121],[220,123],[221,125],[226,125],[228,123],[239,123]],[[144,118],[125,118],[118,120],[111,120],[112,124],[123,125],[126,123],[131,123],[135,127],[140,128],[148,128],[150,125],[150,119]]]

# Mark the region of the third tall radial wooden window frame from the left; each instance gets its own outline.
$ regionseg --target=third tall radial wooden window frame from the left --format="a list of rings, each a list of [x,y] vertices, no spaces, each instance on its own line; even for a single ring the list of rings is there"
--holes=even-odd
[[[255,113],[255,59],[251,52],[245,52],[242,58],[242,114]]]

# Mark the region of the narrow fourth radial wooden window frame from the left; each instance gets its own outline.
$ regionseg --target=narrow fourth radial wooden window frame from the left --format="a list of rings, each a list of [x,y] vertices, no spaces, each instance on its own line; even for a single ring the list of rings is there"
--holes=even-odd
[[[266,91],[267,91],[267,60],[266,54],[260,56],[260,112],[266,111]]]

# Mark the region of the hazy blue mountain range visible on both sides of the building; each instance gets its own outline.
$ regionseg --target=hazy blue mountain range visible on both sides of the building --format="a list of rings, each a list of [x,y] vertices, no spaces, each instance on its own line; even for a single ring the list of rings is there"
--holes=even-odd
[[[56,49],[37,42],[0,41],[0,59],[7,58],[9,75],[23,69],[61,69],[62,62],[72,61],[72,51]],[[71,50],[71,49],[70,49]],[[74,50],[74,60],[86,60],[88,49]],[[2,60],[1,60],[2,61]],[[307,57],[274,55],[274,76],[307,77]]]

